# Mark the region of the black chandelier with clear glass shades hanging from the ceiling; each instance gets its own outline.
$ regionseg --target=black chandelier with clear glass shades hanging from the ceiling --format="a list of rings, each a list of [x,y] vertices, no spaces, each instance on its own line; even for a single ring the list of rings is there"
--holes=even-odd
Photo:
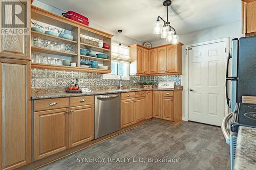
[[[154,34],[161,34],[161,38],[166,38],[166,41],[172,42],[172,44],[176,45],[179,43],[179,36],[176,34],[176,30],[170,26],[170,22],[168,21],[168,6],[171,4],[172,1],[170,0],[163,2],[163,6],[165,6],[167,9],[167,21],[158,16],[154,25]],[[160,21],[160,19],[163,21],[163,23]]]

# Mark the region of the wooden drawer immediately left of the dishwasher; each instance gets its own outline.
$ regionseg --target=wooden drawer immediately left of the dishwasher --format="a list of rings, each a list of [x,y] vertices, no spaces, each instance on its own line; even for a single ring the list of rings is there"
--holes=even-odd
[[[70,98],[69,102],[70,107],[94,104],[94,95]]]

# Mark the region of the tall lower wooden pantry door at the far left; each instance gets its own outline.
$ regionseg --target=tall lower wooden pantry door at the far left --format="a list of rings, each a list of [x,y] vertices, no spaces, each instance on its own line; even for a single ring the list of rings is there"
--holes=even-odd
[[[30,61],[0,58],[0,169],[31,162]]]

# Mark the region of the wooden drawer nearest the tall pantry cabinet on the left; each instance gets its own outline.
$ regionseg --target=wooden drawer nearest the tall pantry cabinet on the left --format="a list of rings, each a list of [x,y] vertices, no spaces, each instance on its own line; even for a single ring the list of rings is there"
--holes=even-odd
[[[34,111],[69,107],[69,98],[41,99],[34,101]]]

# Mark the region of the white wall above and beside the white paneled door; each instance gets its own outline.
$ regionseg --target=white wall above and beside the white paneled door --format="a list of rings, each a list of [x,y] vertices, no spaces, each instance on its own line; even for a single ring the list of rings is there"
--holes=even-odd
[[[199,42],[217,40],[230,37],[230,43],[233,38],[242,37],[242,21],[231,22],[226,25],[212,27],[184,35],[180,35],[179,40],[184,45],[182,47],[182,77],[181,85],[185,86],[185,45],[195,44]],[[167,44],[165,39],[152,42],[153,46]],[[185,89],[183,89],[183,117],[185,116]]]

